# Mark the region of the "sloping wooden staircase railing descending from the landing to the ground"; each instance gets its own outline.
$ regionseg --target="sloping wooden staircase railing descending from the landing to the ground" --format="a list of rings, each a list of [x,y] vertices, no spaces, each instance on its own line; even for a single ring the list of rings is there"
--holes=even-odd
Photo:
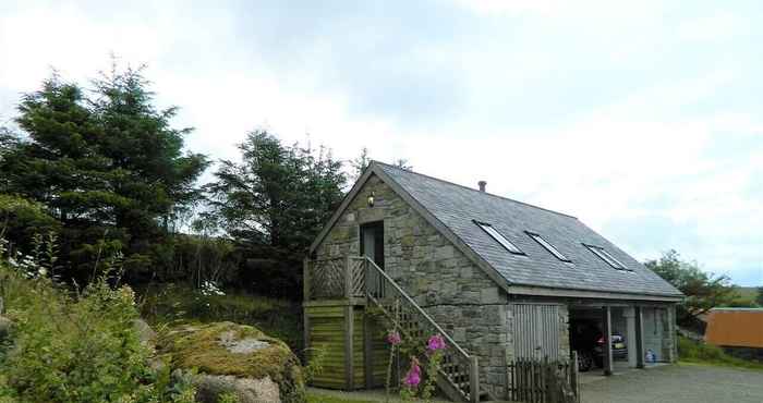
[[[480,401],[477,357],[469,355],[384,270],[365,260],[365,290],[371,303],[398,321],[403,338],[425,340],[439,334],[446,342],[437,384],[453,400]]]

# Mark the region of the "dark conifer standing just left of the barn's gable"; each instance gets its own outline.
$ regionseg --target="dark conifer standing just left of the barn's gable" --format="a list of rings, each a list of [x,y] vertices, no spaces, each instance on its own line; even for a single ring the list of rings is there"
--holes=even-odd
[[[207,185],[213,221],[250,260],[274,262],[244,270],[257,282],[247,285],[296,297],[301,260],[342,200],[342,163],[323,147],[284,146],[265,131],[250,133],[239,149],[242,162],[220,161],[217,180]]]

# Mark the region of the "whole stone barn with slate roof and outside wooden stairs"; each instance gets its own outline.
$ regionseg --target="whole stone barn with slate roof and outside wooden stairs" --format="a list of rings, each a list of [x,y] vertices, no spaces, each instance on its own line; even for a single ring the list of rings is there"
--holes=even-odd
[[[364,171],[305,261],[316,386],[384,384],[393,309],[403,330],[446,339],[438,387],[457,401],[506,398],[517,358],[574,350],[605,374],[676,359],[678,290],[577,218],[479,187]]]

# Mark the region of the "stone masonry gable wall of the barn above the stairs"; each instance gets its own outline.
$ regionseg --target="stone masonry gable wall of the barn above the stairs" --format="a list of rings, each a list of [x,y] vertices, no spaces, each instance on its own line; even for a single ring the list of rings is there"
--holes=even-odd
[[[366,199],[374,192],[374,207]],[[481,381],[505,393],[507,295],[375,175],[317,249],[318,258],[360,255],[360,224],[384,220],[385,270],[453,340],[480,359]]]

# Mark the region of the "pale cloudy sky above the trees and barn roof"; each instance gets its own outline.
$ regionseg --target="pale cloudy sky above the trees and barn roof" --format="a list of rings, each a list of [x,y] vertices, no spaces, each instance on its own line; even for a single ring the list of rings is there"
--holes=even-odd
[[[760,1],[3,0],[0,125],[51,68],[87,83],[113,53],[213,159],[263,127],[367,147],[763,285],[762,20]]]

